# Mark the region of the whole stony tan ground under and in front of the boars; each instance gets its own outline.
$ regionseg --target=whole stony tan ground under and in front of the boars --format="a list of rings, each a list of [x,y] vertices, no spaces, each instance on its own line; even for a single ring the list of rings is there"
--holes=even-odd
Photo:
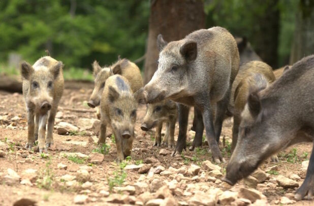
[[[231,187],[221,181],[227,163],[214,164],[206,143],[176,157],[170,156],[172,149],[153,147],[154,131],[140,129],[145,106],[138,109],[131,157],[116,163],[110,129],[106,145],[97,146],[99,120],[86,104],[92,87],[66,84],[54,145],[45,154],[36,147],[23,148],[27,120],[22,95],[0,91],[0,205],[314,205],[313,199],[294,199],[305,178],[311,144],[281,151],[280,162],[266,161]],[[192,118],[191,112],[189,130]],[[227,162],[231,128],[228,119],[219,145]],[[194,134],[188,131],[188,144]]]

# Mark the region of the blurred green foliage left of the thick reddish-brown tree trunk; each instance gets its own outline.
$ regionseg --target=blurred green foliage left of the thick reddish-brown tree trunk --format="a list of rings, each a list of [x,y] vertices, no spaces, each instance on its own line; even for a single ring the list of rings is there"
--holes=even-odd
[[[70,0],[0,1],[0,61],[16,52],[34,62],[48,49],[66,68],[90,68],[95,59],[104,65],[118,55],[135,60],[145,53],[149,1],[71,4]]]

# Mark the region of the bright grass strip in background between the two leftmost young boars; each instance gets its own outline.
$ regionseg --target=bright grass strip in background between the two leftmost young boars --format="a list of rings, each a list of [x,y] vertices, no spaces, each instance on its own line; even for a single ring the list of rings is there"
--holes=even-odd
[[[65,80],[87,80],[93,81],[92,74],[83,68],[70,67],[63,71]]]

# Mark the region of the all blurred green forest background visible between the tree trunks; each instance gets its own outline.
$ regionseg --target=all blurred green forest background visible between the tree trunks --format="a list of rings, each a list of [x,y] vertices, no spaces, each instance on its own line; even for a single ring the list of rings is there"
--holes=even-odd
[[[275,1],[278,67],[289,62],[299,1]],[[269,0],[206,0],[206,27],[226,27],[233,35],[245,36],[256,49],[255,36],[262,32],[259,21],[269,9],[263,2]],[[149,13],[148,0],[2,0],[0,72],[7,68],[11,53],[34,63],[46,49],[74,76],[87,77],[78,68],[91,70],[95,59],[101,65],[111,64],[118,55],[134,61],[145,54]],[[143,61],[138,65],[142,69]]]

